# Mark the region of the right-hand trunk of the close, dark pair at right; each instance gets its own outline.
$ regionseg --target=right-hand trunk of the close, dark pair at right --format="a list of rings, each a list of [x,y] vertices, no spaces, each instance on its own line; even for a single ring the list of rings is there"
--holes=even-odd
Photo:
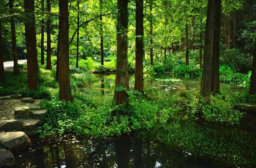
[[[220,92],[220,18],[221,0],[216,0],[216,20],[214,30],[214,45],[212,58],[212,87],[211,92]]]

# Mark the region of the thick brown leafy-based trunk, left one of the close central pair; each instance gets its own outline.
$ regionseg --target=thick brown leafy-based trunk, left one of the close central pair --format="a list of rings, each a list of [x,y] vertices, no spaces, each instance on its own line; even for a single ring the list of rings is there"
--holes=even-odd
[[[117,61],[116,89],[114,98],[116,104],[126,102],[126,91],[129,87],[128,74],[128,0],[117,0]]]

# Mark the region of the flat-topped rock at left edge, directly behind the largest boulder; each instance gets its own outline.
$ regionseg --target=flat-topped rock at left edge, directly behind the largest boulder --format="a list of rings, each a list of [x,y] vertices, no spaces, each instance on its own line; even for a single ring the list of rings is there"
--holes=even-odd
[[[0,131],[20,131],[22,124],[17,119],[8,119],[0,121]]]

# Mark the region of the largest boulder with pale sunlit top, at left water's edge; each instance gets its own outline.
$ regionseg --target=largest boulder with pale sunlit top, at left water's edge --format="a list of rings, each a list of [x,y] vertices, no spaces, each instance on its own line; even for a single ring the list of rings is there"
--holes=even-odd
[[[28,136],[21,131],[0,133],[0,143],[12,151],[27,148],[31,145]]]

